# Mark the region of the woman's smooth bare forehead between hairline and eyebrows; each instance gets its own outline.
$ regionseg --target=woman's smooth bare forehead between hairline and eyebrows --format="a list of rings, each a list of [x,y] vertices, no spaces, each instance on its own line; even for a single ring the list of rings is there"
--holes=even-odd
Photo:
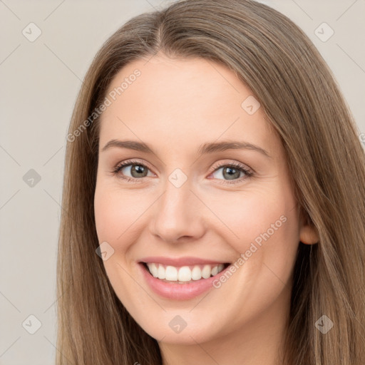
[[[128,137],[168,148],[196,149],[219,139],[279,147],[262,108],[255,111],[259,104],[250,88],[219,63],[138,59],[118,72],[107,95],[111,103],[101,117],[101,145]]]

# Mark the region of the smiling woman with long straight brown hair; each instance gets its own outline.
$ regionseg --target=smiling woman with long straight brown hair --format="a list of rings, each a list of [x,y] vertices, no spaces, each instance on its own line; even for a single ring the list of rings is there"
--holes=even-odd
[[[364,162],[274,9],[131,19],[68,133],[57,364],[364,364]]]

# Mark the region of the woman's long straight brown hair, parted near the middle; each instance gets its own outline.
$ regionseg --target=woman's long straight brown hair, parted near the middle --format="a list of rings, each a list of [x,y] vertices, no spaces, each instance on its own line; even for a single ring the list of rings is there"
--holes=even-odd
[[[97,110],[123,66],[158,52],[230,68],[279,133],[300,212],[317,245],[299,242],[285,358],[365,364],[365,157],[327,64],[278,11],[250,0],[186,0],[128,21],[93,60],[73,110],[58,246],[57,364],[161,364],[158,342],[116,297],[96,249]],[[326,315],[334,327],[316,327]]]

